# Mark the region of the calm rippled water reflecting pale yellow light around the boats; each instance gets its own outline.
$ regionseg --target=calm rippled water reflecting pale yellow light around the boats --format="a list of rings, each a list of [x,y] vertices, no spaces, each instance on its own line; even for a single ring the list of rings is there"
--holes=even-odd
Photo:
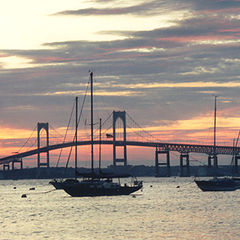
[[[48,192],[48,180],[0,181],[0,239],[240,239],[240,190],[201,192],[190,178],[142,180],[136,197],[90,198]]]

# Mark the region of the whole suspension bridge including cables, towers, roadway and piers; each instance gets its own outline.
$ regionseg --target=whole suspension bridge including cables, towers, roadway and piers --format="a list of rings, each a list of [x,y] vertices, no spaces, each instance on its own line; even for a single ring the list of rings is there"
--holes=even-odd
[[[135,127],[132,127],[127,124],[127,117],[128,120]],[[214,147],[213,145],[204,145],[204,144],[185,144],[185,143],[164,143],[154,138],[154,136],[145,131],[136,121],[125,111],[113,111],[111,115],[109,115],[104,124],[106,122],[110,122],[109,127],[105,127],[103,130],[103,134],[106,139],[98,140],[95,137],[93,144],[94,145],[111,145],[112,152],[113,152],[113,166],[127,166],[129,164],[128,157],[127,157],[127,146],[135,146],[135,147],[147,147],[153,149],[153,153],[155,156],[155,171],[156,175],[159,174],[159,170],[161,167],[165,167],[167,169],[167,175],[170,176],[170,168],[171,168],[171,159],[170,159],[170,152],[178,152],[179,153],[179,166],[180,166],[180,173],[181,176],[184,175],[184,171],[186,172],[185,175],[190,175],[190,154],[191,153],[201,153],[205,154],[207,157],[207,166],[209,168],[218,167],[218,159],[214,160]],[[119,124],[120,123],[120,124]],[[103,125],[104,125],[103,124]],[[69,124],[68,124],[69,125]],[[37,147],[33,147],[27,151],[19,151],[14,153],[13,155],[6,156],[0,158],[0,165],[4,171],[9,171],[15,169],[15,164],[20,164],[20,168],[23,169],[23,162],[27,161],[24,160],[26,157],[37,155],[37,168],[49,168],[50,167],[50,152],[57,149],[64,149],[64,148],[72,148],[73,146],[86,146],[90,145],[91,141],[89,139],[85,140],[78,140],[75,141],[73,136],[71,141],[67,141],[66,135],[62,136],[61,143],[54,143],[50,144],[50,137],[49,137],[49,124],[48,123],[38,123],[37,124],[37,138],[32,137],[33,134],[29,137],[27,142],[30,140],[34,141],[34,145]],[[36,129],[35,128],[35,129]],[[35,132],[35,129],[33,132]],[[137,131],[132,131],[132,129],[138,129]],[[140,129],[140,130],[139,130]],[[45,142],[46,146],[41,146],[41,133],[42,130],[45,130]],[[54,128],[53,131],[56,132]],[[97,131],[97,130],[96,130]],[[95,136],[97,136],[95,131]],[[109,134],[109,132],[111,134]],[[133,137],[131,138],[132,133],[140,138],[140,140],[135,140]],[[129,137],[130,135],[130,137]],[[27,142],[21,147],[21,149],[25,149]],[[118,149],[118,150],[117,150]],[[119,151],[121,152],[121,156],[118,155]],[[216,146],[216,154],[219,155],[230,155],[233,156],[233,163],[234,163],[234,171],[238,174],[238,160],[240,159],[240,147],[236,146]],[[45,161],[41,160],[41,155],[46,154]],[[161,160],[159,158],[161,157]],[[163,158],[163,159],[162,159]],[[213,166],[213,162],[216,166]]]

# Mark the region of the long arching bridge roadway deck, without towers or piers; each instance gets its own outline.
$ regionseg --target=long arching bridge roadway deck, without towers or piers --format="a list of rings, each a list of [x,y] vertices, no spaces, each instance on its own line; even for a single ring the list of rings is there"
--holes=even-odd
[[[93,142],[94,144],[99,144],[99,140]],[[116,145],[123,146],[123,141],[116,141]],[[67,142],[61,144],[50,145],[47,147],[41,147],[39,149],[33,149],[30,151],[14,154],[11,156],[0,158],[0,165],[13,162],[16,159],[32,156],[38,153],[47,152],[47,150],[52,151],[60,148],[67,148],[75,146],[75,142]],[[91,141],[78,141],[79,146],[90,145]],[[112,140],[102,140],[101,144],[113,145]],[[177,151],[179,153],[205,153],[208,155],[213,154],[213,145],[194,145],[194,144],[178,144],[178,143],[160,143],[160,142],[137,142],[137,141],[126,141],[128,146],[141,146],[141,147],[154,147],[162,151]],[[223,155],[236,155],[240,153],[240,147],[230,147],[230,146],[217,146],[217,154]]]

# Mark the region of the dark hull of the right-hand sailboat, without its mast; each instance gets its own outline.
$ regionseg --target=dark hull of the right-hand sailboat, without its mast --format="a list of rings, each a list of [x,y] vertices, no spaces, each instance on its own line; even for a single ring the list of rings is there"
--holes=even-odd
[[[235,191],[240,189],[240,182],[234,181],[233,179],[195,180],[195,183],[204,192]]]

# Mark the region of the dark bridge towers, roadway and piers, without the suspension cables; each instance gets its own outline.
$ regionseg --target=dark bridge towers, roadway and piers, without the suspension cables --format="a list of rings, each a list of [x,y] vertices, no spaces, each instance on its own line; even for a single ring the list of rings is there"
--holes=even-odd
[[[109,135],[111,140],[94,140],[94,145],[112,145],[113,146],[113,165],[114,166],[127,166],[127,146],[137,146],[137,147],[148,147],[153,148],[155,151],[155,171],[156,175],[159,174],[159,168],[165,167],[167,169],[167,173],[170,176],[170,167],[171,167],[171,159],[170,152],[178,152],[180,153],[180,173],[181,176],[184,175],[184,169],[186,169],[187,176],[190,175],[190,153],[202,153],[208,156],[207,165],[208,167],[218,167],[213,166],[212,161],[214,159],[214,147],[213,145],[199,145],[199,144],[182,144],[182,143],[164,143],[160,141],[127,141],[127,124],[126,124],[126,112],[125,111],[113,111],[113,121],[112,121],[112,135]],[[122,121],[122,139],[119,140],[117,138],[117,120]],[[131,117],[130,119],[135,122]],[[137,124],[135,122],[135,124]],[[20,163],[21,168],[23,168],[23,160],[25,157],[29,157],[32,155],[38,155],[38,168],[41,167],[50,167],[50,159],[49,152],[57,149],[63,149],[68,147],[73,147],[75,145],[78,146],[86,146],[90,145],[90,140],[82,140],[82,141],[69,141],[58,144],[49,145],[49,126],[48,123],[38,123],[38,137],[37,137],[37,148],[31,149],[29,151],[15,153],[13,155],[9,155],[3,158],[0,158],[0,165],[3,166],[3,170],[10,170],[10,164],[12,164],[12,169],[14,169],[15,163]],[[40,146],[40,131],[44,129],[46,131],[46,145],[44,147]],[[109,130],[109,128],[107,128]],[[117,155],[116,149],[121,149],[123,152],[123,157],[119,158]],[[41,162],[40,155],[41,153],[47,154],[47,162]],[[240,147],[233,146],[216,146],[216,154],[217,155],[231,155],[234,156],[234,169],[235,173],[238,173],[238,160],[240,159]],[[165,160],[159,160],[159,155],[164,155]],[[218,162],[217,162],[218,165]]]

